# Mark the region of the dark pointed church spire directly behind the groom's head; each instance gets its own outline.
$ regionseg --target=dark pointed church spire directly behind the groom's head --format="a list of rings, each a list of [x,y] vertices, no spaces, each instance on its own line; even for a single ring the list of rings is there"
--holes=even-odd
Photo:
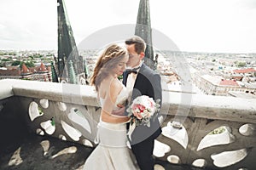
[[[142,37],[147,43],[145,51],[145,63],[154,68],[154,52],[152,44],[152,29],[150,21],[149,0],[140,0],[139,8],[137,12],[137,25],[135,29],[135,35]]]

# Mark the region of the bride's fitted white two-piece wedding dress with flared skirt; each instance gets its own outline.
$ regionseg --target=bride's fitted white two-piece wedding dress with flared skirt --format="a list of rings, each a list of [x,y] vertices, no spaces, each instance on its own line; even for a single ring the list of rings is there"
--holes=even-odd
[[[116,104],[128,98],[128,92],[123,86]],[[101,100],[101,105],[104,99]],[[139,169],[136,158],[127,147],[126,123],[98,123],[96,149],[84,163],[84,170],[133,170]]]

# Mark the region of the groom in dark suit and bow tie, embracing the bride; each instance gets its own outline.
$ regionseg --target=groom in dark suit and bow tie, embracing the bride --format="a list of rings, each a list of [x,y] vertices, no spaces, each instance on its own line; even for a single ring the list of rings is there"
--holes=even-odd
[[[132,90],[131,101],[137,96],[148,95],[154,100],[162,100],[160,75],[143,63],[146,44],[141,37],[131,37],[125,41],[129,53],[127,67],[132,71],[125,71],[123,83]],[[142,170],[154,169],[154,139],[161,133],[158,118],[151,120],[150,127],[137,126],[131,133],[131,150],[136,156],[137,163]]]

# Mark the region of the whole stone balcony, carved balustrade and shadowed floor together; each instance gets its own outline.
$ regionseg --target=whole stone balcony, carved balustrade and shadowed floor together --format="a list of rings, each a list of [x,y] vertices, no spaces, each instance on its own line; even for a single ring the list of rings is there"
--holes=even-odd
[[[82,169],[100,111],[90,86],[1,80],[0,168]],[[256,99],[164,90],[160,122],[156,169],[256,167]]]

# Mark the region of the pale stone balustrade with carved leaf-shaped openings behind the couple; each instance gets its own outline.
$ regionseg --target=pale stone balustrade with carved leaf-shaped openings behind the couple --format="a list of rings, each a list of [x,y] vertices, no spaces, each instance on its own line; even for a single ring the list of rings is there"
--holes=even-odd
[[[100,111],[90,86],[0,81],[0,120],[16,122],[1,134],[15,136],[25,126],[29,133],[94,147]],[[157,160],[212,169],[256,167],[256,99],[164,90],[159,119]],[[9,135],[1,139],[8,141]]]

